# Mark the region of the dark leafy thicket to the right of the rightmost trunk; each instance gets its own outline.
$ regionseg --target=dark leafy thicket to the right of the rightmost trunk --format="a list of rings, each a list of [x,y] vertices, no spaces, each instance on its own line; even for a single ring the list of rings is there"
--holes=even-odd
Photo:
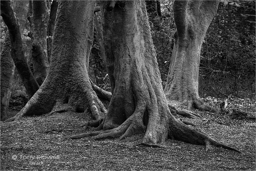
[[[225,2],[202,46],[199,91],[201,96],[255,96],[255,1]]]

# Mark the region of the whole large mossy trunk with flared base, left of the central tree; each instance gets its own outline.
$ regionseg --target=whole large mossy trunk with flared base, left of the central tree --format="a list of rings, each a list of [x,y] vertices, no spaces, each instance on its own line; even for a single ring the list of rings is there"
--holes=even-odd
[[[105,115],[106,108],[93,91],[88,77],[93,10],[93,1],[59,2],[49,73],[24,108],[8,121],[48,112],[86,113],[86,108],[95,120]]]

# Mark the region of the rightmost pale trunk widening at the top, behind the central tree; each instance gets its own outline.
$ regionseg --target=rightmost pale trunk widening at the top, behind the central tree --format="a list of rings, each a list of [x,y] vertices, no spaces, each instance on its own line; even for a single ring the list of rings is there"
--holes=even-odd
[[[174,1],[177,27],[171,64],[164,89],[166,98],[187,102],[199,110],[216,112],[199,100],[198,75],[203,40],[219,1]]]

